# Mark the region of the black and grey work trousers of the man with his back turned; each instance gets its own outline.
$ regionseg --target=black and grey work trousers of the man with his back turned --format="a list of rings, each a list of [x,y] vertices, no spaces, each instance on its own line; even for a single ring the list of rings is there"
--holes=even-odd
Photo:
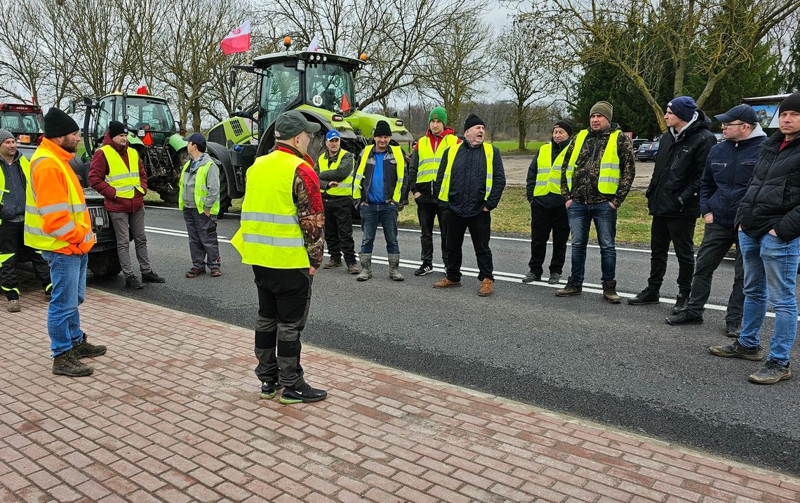
[[[300,333],[306,328],[311,300],[308,269],[253,266],[258,287],[255,329],[255,375],[262,383],[298,388],[303,380]]]

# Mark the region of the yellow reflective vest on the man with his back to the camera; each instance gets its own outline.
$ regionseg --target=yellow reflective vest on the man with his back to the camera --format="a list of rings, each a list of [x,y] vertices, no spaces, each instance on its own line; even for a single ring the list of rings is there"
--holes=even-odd
[[[302,163],[297,155],[272,151],[247,170],[241,223],[230,239],[243,264],[274,269],[310,266],[292,197],[294,174]]]

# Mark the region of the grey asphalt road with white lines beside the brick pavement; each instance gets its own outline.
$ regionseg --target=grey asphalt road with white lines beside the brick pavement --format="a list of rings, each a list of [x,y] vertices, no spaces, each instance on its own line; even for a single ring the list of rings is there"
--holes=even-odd
[[[181,214],[150,207],[147,212],[150,257],[166,284],[130,291],[118,276],[89,286],[253,328],[258,300],[252,272],[227,243],[238,219],[227,217],[218,225],[223,276],[188,280],[183,276],[190,262]],[[360,229],[354,234],[358,242]],[[750,384],[747,375],[760,362],[722,359],[706,351],[711,344],[730,341],[723,336],[724,305],[733,283],[730,260],[715,276],[706,323],[671,327],[664,323],[672,307],[667,302],[633,307],[624,300],[619,305],[602,300],[597,247],[589,251],[583,295],[561,299],[550,285],[520,282],[528,241],[493,238],[495,293],[478,297],[468,243],[464,265],[470,276],[463,279],[463,288],[436,290],[431,285],[441,273],[413,276],[419,264],[418,232],[400,232],[403,283],[386,277],[386,261],[378,258],[386,256],[379,232],[372,280],[358,283],[344,268],[318,272],[303,340],[800,475],[800,378],[774,386]],[[649,267],[648,251],[618,250],[621,295],[632,296],[646,286]],[[568,271],[569,253],[565,278]],[[677,294],[676,276],[673,256],[662,290],[666,299]],[[765,333],[771,334],[773,322],[768,318]],[[793,356],[800,356],[797,347]]]

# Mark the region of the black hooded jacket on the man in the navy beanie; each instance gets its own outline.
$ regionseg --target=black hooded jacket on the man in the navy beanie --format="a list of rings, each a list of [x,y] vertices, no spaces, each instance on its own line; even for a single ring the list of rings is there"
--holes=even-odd
[[[679,133],[670,127],[662,135],[653,178],[645,193],[650,215],[700,216],[700,177],[716,143],[710,119],[699,110]]]

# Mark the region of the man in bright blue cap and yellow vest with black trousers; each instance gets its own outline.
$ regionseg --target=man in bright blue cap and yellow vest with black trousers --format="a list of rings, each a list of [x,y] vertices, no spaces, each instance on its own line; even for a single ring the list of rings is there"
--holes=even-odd
[[[353,242],[353,154],[342,148],[342,135],[335,129],[325,135],[325,151],[319,155],[314,171],[319,176],[322,203],[325,204],[325,243],[330,260],[323,269],[338,268],[342,256],[347,272],[358,274]]]

